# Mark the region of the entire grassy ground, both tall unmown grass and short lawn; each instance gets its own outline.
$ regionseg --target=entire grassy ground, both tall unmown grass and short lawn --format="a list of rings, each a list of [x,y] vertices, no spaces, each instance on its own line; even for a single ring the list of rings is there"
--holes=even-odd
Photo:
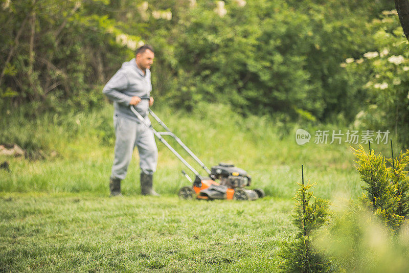
[[[178,189],[190,185],[180,173],[186,167],[161,143],[154,187],[162,197],[140,195],[135,153],[124,197],[110,198],[111,106],[72,121],[22,123],[54,156],[0,156],[11,169],[0,170],[0,271],[275,272],[281,242],[296,234],[291,198],[301,164],[305,180],[317,183],[315,196],[360,195],[348,144],[299,146],[295,125],[241,119],[222,106],[207,110],[157,114],[208,167],[229,162],[247,170],[264,199],[179,200]]]

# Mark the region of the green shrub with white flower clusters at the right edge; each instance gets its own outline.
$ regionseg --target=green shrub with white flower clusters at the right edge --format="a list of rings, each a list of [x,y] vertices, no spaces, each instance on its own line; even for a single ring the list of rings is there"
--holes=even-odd
[[[409,145],[409,51],[395,10],[385,11],[369,24],[372,50],[360,58],[347,58],[342,65],[364,81],[363,114],[356,125],[389,129]]]

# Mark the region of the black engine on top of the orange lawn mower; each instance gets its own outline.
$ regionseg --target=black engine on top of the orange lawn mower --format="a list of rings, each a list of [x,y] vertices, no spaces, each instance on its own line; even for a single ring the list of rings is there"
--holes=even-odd
[[[251,184],[251,177],[247,172],[231,164],[219,163],[213,166],[211,171],[215,179],[220,179],[220,185],[230,189],[243,188]]]

